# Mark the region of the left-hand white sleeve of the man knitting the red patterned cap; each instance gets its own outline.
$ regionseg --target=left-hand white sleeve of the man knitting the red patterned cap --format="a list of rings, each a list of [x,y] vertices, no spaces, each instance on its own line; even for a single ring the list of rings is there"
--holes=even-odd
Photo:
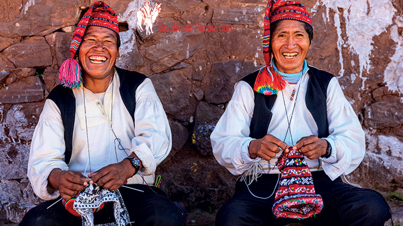
[[[259,162],[249,156],[249,126],[254,109],[252,88],[244,81],[235,84],[231,101],[211,133],[211,145],[218,163],[234,175],[241,175]]]

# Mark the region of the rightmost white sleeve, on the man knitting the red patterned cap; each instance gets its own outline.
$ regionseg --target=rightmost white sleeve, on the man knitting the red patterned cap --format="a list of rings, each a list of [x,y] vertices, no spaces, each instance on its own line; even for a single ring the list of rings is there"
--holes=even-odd
[[[328,161],[339,169],[326,163],[323,169],[334,180],[342,174],[353,172],[363,161],[365,133],[336,77],[329,83],[326,102],[330,135],[325,139],[332,146]]]

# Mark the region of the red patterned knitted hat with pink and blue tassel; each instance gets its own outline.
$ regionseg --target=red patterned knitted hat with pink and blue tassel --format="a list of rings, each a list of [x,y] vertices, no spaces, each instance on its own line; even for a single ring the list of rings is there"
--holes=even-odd
[[[116,12],[103,1],[94,2],[74,30],[70,45],[71,58],[65,60],[59,69],[60,84],[65,87],[78,89],[82,86],[80,66],[74,58],[88,26],[99,26],[113,30],[117,34],[117,45],[119,46],[119,23]]]

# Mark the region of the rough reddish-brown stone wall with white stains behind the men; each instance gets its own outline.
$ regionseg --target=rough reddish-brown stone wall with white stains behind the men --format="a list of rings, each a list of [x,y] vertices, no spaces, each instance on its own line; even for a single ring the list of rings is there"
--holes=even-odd
[[[148,75],[169,117],[173,149],[158,168],[162,188],[189,211],[214,212],[235,176],[212,156],[209,134],[233,85],[264,64],[265,0],[151,0],[163,25],[233,25],[234,32],[146,34],[143,2],[109,0],[119,16],[117,65]],[[308,62],[339,77],[367,134],[367,154],[348,178],[383,191],[403,188],[403,1],[302,0],[313,16]],[[58,83],[69,42],[89,0],[0,1],[0,221],[15,224],[40,201],[26,178],[30,139]]]

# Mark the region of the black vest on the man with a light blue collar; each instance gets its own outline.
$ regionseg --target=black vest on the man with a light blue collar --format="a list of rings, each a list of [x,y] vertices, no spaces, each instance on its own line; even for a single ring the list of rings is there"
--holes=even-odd
[[[305,103],[318,125],[318,137],[323,138],[329,135],[326,98],[329,82],[334,75],[315,67],[308,67],[309,81]],[[245,76],[241,81],[247,82],[253,89],[258,73],[259,70]],[[255,108],[253,109],[249,136],[260,139],[267,134],[267,129],[273,116],[271,109],[277,95],[266,96],[255,91],[253,93],[255,94]]]

